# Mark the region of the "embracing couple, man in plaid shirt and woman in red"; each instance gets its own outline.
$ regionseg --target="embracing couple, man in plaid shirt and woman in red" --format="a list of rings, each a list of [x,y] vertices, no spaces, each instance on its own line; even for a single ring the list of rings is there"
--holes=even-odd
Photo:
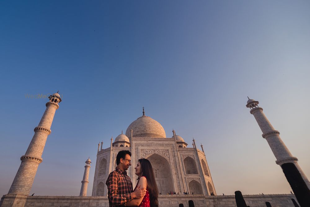
[[[126,172],[131,166],[131,152],[119,151],[116,164],[117,167],[109,174],[106,182],[109,206],[158,207],[158,189],[150,161],[139,159],[135,167],[138,183],[134,190]]]

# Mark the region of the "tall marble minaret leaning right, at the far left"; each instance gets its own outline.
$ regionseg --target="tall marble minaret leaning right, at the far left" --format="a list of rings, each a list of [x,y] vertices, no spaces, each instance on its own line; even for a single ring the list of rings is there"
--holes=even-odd
[[[46,110],[37,127],[34,128],[34,135],[29,144],[25,155],[21,156],[21,164],[15,175],[9,193],[29,195],[38,166],[42,162],[42,153],[47,140],[51,134],[51,125],[55,111],[61,102],[60,95],[57,93],[48,97]]]

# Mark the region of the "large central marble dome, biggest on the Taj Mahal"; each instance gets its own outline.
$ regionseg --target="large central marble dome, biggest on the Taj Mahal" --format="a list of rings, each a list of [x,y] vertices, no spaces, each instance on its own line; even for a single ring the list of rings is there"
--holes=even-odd
[[[126,130],[126,136],[131,137],[131,129],[133,137],[156,137],[166,138],[166,132],[158,121],[143,115],[133,121]]]

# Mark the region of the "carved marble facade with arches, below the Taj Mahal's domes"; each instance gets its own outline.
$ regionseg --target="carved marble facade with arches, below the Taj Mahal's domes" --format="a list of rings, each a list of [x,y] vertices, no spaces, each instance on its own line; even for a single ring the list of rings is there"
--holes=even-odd
[[[175,140],[171,138],[133,137],[131,147],[100,150],[97,154],[92,196],[107,196],[105,182],[108,174],[115,170],[116,156],[120,150],[129,150],[132,153],[132,166],[127,170],[127,174],[131,177],[134,187],[137,182],[134,167],[138,159],[146,158],[152,163],[157,186],[162,194],[170,191],[179,194],[195,191],[194,195],[210,195],[210,192],[216,194],[209,169],[207,168],[207,176],[201,164],[201,160],[207,163],[204,153],[196,148],[178,148],[176,145]],[[102,164],[104,159],[107,161],[105,167]],[[208,189],[208,183],[212,187],[211,191]]]

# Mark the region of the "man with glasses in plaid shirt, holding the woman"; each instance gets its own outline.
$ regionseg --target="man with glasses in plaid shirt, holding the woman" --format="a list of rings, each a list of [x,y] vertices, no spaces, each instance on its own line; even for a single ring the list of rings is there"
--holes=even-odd
[[[116,156],[117,167],[107,178],[107,182],[105,184],[108,187],[110,207],[126,206],[128,201],[135,198],[141,198],[146,193],[146,189],[140,189],[140,186],[133,191],[131,179],[126,172],[131,165],[130,158],[130,151],[119,151]]]

